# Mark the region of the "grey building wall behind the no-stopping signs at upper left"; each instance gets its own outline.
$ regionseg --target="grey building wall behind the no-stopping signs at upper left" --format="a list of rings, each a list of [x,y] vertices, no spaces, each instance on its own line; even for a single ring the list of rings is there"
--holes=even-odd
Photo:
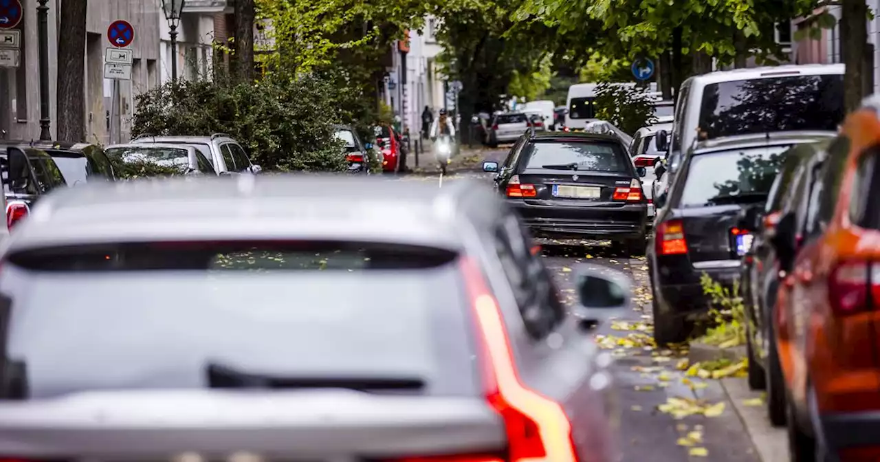
[[[59,20],[57,12],[63,0],[50,0],[48,11],[49,40],[49,108],[52,136],[55,138],[57,82],[57,44]],[[22,66],[18,70],[0,70],[0,129],[9,139],[36,139],[40,136],[40,72],[37,36],[37,0],[21,0],[25,14],[22,20]],[[128,140],[130,117],[137,92],[158,84],[159,21],[165,21],[160,0],[90,0],[86,18],[85,43],[85,119],[86,141],[107,143],[110,110],[110,81],[104,79],[104,53],[110,47],[107,27],[116,19],[124,19],[135,27],[131,48],[135,62],[132,80],[121,81],[121,139]],[[63,37],[61,37],[63,40]],[[5,74],[5,76],[4,76]]]

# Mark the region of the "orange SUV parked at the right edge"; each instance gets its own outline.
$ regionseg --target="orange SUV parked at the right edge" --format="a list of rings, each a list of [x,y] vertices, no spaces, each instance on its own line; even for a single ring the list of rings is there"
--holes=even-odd
[[[878,112],[872,98],[847,117],[774,238],[783,282],[774,329],[795,461],[880,460]]]

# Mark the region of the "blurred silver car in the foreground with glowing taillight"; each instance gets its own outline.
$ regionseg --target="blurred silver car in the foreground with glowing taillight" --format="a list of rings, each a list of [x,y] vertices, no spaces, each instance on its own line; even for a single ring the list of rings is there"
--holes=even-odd
[[[64,193],[0,246],[16,458],[619,460],[611,356],[481,183]],[[582,318],[629,308],[627,276],[576,271]]]

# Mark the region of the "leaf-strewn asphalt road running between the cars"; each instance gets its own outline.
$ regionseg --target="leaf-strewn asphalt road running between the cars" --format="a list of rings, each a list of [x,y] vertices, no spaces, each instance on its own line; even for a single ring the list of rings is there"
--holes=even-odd
[[[505,154],[506,150],[480,150],[470,157],[497,161]],[[453,169],[444,183],[462,178],[488,181],[491,174],[481,172],[480,165],[471,162]],[[437,181],[438,187],[441,184],[439,175],[430,171],[404,179]],[[612,372],[620,393],[623,462],[759,462],[758,452],[718,380],[686,378],[685,372],[678,369],[684,359],[680,352],[642,346],[650,334],[640,329],[651,322],[644,257],[614,253],[610,243],[601,241],[539,243],[568,304],[574,302],[572,275],[579,264],[614,268],[634,281],[633,311],[622,319],[597,326],[593,334],[616,358]],[[627,336],[631,337],[627,340]],[[670,399],[673,404],[676,399],[685,399],[679,407],[685,411],[712,407],[714,412],[676,419],[668,409]]]

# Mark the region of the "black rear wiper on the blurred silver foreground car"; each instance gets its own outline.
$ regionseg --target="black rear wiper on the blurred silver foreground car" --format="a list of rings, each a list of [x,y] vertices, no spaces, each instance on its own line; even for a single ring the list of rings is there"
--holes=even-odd
[[[379,391],[418,391],[425,386],[421,378],[389,377],[277,377],[252,374],[216,363],[208,364],[208,386],[210,388],[250,388],[250,389],[303,389],[303,388],[344,388],[359,392]]]

